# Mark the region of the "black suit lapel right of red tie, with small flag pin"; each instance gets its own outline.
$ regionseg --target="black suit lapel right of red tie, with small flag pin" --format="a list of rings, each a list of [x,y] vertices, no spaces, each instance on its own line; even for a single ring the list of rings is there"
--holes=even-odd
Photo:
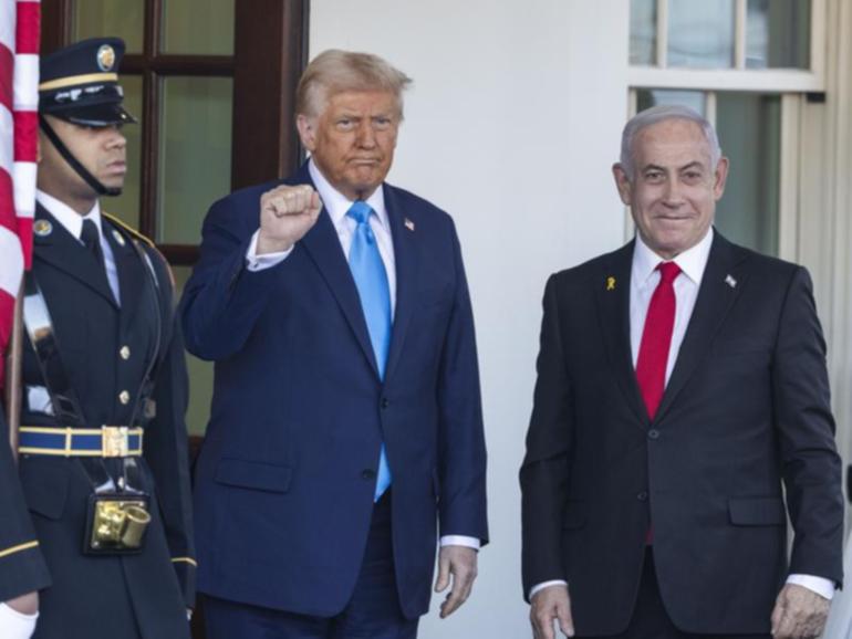
[[[713,337],[742,289],[747,273],[741,266],[746,256],[745,251],[715,232],[693,315],[655,421],[665,417],[709,349]]]

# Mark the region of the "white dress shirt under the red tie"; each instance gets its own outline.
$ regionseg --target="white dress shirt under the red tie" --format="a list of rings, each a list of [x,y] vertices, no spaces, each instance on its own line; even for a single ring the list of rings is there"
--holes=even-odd
[[[677,362],[677,354],[684,342],[684,335],[686,335],[686,327],[689,325],[689,318],[693,316],[704,270],[710,256],[713,233],[713,228],[710,228],[695,247],[672,260],[680,268],[680,274],[678,274],[674,282],[675,326],[672,331],[672,345],[668,349],[668,362],[666,362],[666,384],[668,384],[668,378],[672,376],[675,362]],[[638,349],[642,343],[642,333],[645,329],[645,316],[651,305],[651,296],[659,283],[661,274],[657,271],[657,266],[664,261],[636,233],[636,245],[633,250],[633,264],[631,265],[630,277],[630,338],[634,369],[638,359]],[[823,577],[792,574],[787,577],[787,583],[804,586],[827,599],[831,599],[834,596],[834,584]],[[542,582],[530,589],[530,598],[542,588],[557,585],[564,586],[567,584],[561,579]]]

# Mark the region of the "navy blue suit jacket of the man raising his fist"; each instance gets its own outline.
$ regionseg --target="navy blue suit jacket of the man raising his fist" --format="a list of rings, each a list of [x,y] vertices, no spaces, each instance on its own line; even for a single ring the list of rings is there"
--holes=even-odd
[[[325,211],[281,264],[246,269],[260,196],[309,182],[302,167],[287,182],[215,203],[181,302],[189,350],[216,362],[196,474],[199,588],[293,612],[340,612],[361,567],[384,441],[399,598],[416,617],[428,606],[437,521],[443,534],[488,537],[459,244],[446,213],[384,185],[397,295],[383,384]]]

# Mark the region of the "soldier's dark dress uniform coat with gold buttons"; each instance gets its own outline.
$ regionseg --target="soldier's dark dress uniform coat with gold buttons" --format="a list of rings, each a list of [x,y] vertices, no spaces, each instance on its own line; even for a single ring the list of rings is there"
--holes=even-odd
[[[86,464],[103,463],[115,471],[122,462],[21,454],[20,483],[35,537],[28,538],[28,522],[7,517],[4,510],[0,541],[13,545],[37,540],[50,572],[52,586],[41,591],[34,637],[125,639],[132,637],[127,628],[134,627],[143,639],[188,637],[186,607],[194,604],[195,559],[184,422],[187,376],[168,266],[144,239],[103,217],[103,234],[118,273],[118,305],[92,253],[41,206],[35,229],[33,273],[86,427],[144,426],[144,452],[133,459],[139,465],[142,488],[152,494],[152,522],[139,554],[84,554],[87,501],[93,492]],[[135,247],[142,248],[145,259]],[[152,364],[155,376],[147,418],[129,423]],[[45,386],[30,344],[24,350],[23,378],[21,425],[66,426],[58,423],[50,410],[30,405],[29,389]],[[7,526],[13,531],[11,536],[3,536]],[[38,552],[0,557],[0,593],[10,583],[18,586],[21,575],[28,587],[45,585]]]

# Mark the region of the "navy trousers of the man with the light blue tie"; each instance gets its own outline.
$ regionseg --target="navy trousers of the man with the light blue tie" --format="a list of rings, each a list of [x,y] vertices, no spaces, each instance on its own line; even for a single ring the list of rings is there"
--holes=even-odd
[[[205,597],[204,610],[209,639],[416,639],[419,619],[405,618],[396,590],[391,490],[373,509],[355,589],[339,615],[298,615],[215,597]]]

